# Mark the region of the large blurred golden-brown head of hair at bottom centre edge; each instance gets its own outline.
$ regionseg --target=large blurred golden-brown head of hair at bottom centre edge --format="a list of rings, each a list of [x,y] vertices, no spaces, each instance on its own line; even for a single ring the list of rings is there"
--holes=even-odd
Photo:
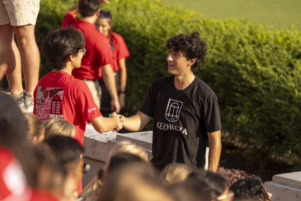
[[[164,186],[144,166],[121,167],[109,176],[98,201],[172,201]]]

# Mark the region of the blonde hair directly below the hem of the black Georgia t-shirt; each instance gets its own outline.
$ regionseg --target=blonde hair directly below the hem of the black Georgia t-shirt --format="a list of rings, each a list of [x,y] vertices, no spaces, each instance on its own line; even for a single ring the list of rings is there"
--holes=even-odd
[[[174,184],[185,181],[192,171],[193,169],[190,166],[183,163],[171,163],[165,166],[160,174],[160,178],[169,184]]]

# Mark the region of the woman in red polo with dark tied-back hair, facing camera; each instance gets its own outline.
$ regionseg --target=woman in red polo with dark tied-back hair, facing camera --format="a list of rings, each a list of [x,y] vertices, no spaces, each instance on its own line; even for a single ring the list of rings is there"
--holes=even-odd
[[[122,36],[113,32],[112,15],[108,9],[101,10],[98,19],[95,23],[96,29],[104,34],[107,39],[107,45],[110,47],[113,56],[113,71],[116,80],[117,92],[119,95],[120,108],[123,109],[126,104],[126,58],[129,57],[129,50]],[[102,71],[99,71],[99,77],[102,77]],[[110,113],[111,97],[105,86],[104,80],[100,79],[100,86],[102,91],[101,96],[101,112],[104,116]],[[121,114],[123,111],[120,112]]]

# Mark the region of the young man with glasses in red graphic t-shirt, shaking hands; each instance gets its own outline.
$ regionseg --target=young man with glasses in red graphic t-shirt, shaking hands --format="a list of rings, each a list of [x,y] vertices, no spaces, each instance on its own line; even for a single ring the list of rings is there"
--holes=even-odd
[[[33,113],[42,122],[63,118],[74,124],[74,138],[81,145],[88,122],[99,133],[122,128],[116,113],[111,118],[101,115],[88,86],[71,75],[73,69],[81,67],[86,51],[85,37],[80,30],[66,28],[50,32],[42,44],[42,52],[53,70],[39,81],[34,91]]]

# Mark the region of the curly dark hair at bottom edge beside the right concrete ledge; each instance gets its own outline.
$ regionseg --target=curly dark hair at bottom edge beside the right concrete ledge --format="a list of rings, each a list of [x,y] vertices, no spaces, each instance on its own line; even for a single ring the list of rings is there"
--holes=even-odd
[[[262,179],[260,177],[248,177],[240,179],[229,188],[234,192],[234,200],[259,200],[268,201],[268,193],[263,186]]]

